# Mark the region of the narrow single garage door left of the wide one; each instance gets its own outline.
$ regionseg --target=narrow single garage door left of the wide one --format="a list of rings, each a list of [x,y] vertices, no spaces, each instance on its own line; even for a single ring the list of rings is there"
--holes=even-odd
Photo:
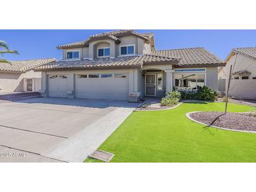
[[[48,96],[67,97],[67,74],[48,75]]]

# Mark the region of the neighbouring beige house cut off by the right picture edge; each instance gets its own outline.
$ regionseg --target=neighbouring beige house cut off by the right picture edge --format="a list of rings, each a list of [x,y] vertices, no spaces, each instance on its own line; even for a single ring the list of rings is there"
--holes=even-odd
[[[234,48],[225,60],[226,67],[221,67],[220,81],[225,79],[227,91],[229,71],[232,65],[229,95],[238,99],[256,99],[256,47]]]

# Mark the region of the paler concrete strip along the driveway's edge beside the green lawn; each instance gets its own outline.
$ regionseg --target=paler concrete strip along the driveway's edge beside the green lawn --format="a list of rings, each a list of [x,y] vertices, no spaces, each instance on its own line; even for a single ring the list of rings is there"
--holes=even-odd
[[[118,108],[100,118],[69,139],[60,142],[43,156],[67,162],[83,162],[133,112],[134,108]]]

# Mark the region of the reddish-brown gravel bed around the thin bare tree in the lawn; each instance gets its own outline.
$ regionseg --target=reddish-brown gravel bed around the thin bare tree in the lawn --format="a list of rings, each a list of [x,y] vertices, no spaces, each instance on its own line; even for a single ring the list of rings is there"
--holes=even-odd
[[[195,112],[189,115],[207,125],[231,130],[256,131],[256,116],[252,113]]]

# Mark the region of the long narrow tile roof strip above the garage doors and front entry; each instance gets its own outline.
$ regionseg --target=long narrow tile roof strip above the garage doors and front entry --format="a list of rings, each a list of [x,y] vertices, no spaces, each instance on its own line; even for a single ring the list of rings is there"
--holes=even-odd
[[[40,67],[36,67],[35,70],[43,71],[47,69],[67,69],[67,68],[133,68],[141,67],[142,64],[150,62],[170,62],[177,61],[177,58],[163,57],[159,55],[139,55],[139,56],[128,56],[128,57],[117,57],[117,58],[98,58],[94,60],[61,60],[59,62],[53,62],[49,64],[43,64]]]

